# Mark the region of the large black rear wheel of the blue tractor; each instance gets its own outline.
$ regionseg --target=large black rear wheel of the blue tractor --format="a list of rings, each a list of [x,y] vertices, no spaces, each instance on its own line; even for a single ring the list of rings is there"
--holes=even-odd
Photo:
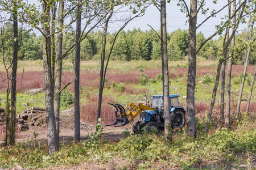
[[[181,111],[172,112],[170,115],[172,129],[183,128],[185,126],[185,113]]]

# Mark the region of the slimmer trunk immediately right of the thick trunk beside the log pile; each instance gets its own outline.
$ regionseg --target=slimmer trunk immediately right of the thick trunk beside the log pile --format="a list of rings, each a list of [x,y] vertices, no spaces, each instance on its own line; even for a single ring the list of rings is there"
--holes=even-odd
[[[59,2],[59,16],[58,27],[61,29],[63,26],[63,10],[64,2]],[[54,87],[54,113],[56,124],[56,136],[57,136],[57,150],[60,147],[60,88],[61,88],[61,72],[62,72],[62,42],[63,32],[58,33],[56,43],[56,64],[55,64],[55,87]]]

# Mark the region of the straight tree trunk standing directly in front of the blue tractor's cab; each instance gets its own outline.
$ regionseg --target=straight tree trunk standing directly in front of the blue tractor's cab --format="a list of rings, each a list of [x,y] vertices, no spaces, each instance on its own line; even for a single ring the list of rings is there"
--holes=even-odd
[[[163,97],[164,97],[164,134],[171,139],[171,119],[170,119],[170,94],[169,94],[169,70],[167,58],[167,29],[166,29],[166,1],[160,1],[160,20],[161,20],[161,56],[163,74]],[[168,128],[167,128],[168,127]]]

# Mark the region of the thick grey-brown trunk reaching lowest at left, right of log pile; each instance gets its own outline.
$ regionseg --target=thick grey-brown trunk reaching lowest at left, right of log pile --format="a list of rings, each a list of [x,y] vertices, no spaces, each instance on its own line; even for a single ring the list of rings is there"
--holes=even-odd
[[[50,7],[46,2],[43,2],[43,23],[49,23],[49,11]],[[43,24],[43,61],[44,61],[44,87],[46,94],[46,111],[47,111],[47,125],[48,125],[48,153],[52,155],[57,151],[57,137],[56,137],[56,124],[53,107],[53,81],[51,70],[51,37],[50,28],[47,24]]]

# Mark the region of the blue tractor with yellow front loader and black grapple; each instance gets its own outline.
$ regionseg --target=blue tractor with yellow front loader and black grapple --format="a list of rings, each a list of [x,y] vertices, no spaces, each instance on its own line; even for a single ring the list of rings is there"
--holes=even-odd
[[[181,107],[178,99],[179,95],[170,95],[170,119],[171,128],[183,128],[185,125],[185,110]],[[146,130],[158,130],[164,128],[163,95],[152,95],[151,104],[129,103],[125,108],[119,104],[110,104],[115,107],[115,122],[111,125],[125,126],[139,116],[139,121],[133,122],[131,126],[135,134],[142,133],[142,128]],[[117,125],[119,124],[119,125]],[[120,125],[121,124],[121,125]],[[106,126],[111,126],[106,125]]]

